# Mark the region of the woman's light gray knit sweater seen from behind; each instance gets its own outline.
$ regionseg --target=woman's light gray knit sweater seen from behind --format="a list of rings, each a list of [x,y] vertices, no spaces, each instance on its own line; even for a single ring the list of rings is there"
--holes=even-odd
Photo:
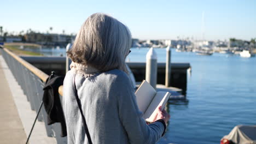
[[[63,83],[63,111],[68,143],[88,143],[68,71]],[[85,78],[76,74],[75,85],[92,143],[156,143],[164,132],[161,122],[147,125],[139,111],[129,77],[110,70]]]

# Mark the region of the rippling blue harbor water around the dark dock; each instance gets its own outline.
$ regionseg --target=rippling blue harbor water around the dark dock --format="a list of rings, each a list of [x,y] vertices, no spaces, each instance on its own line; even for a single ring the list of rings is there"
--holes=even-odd
[[[145,62],[148,50],[131,49],[127,60]],[[166,50],[155,50],[158,61],[165,62]],[[44,55],[60,56],[65,51],[45,50]],[[188,101],[168,101],[171,119],[159,143],[220,143],[236,125],[256,124],[256,57],[199,56],[172,49],[171,61],[189,62],[192,67]]]

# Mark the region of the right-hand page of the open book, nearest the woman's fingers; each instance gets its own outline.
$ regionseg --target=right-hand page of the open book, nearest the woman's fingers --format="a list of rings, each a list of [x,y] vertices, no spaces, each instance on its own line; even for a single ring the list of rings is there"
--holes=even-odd
[[[171,93],[169,92],[157,92],[155,98],[152,100],[148,109],[144,113],[143,118],[146,119],[147,122],[153,122],[156,117],[156,113],[158,112],[158,107],[162,106],[162,109],[164,109],[170,95]]]

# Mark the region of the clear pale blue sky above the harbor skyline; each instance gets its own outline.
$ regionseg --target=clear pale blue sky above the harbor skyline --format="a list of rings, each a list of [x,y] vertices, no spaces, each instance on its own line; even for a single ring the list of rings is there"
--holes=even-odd
[[[127,25],[133,38],[202,38],[202,12],[205,13],[205,39],[256,38],[255,0],[214,1],[1,1],[0,26],[3,30],[32,30],[77,33],[86,18],[107,13]]]

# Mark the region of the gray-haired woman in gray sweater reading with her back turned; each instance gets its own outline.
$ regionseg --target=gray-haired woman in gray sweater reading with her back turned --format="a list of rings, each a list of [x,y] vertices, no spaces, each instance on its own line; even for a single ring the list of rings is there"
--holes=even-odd
[[[67,52],[73,61],[63,83],[68,143],[88,143],[76,89],[92,143],[156,143],[164,134],[165,110],[149,125],[138,110],[126,74],[130,47],[129,29],[113,17],[96,13],[84,22]]]

